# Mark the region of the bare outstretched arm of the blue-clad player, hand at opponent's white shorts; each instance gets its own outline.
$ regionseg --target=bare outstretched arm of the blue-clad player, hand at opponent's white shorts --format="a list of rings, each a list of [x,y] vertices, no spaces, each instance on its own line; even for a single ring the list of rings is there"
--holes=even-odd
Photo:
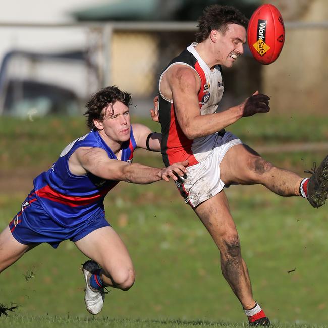
[[[78,170],[80,166],[80,175],[83,174],[81,172],[83,170],[84,174],[90,172],[106,180],[138,184],[149,184],[159,180],[169,181],[170,178],[177,180],[175,173],[179,176],[186,175],[186,166],[188,165],[188,161],[175,163],[167,168],[153,168],[138,163],[128,164],[120,160],[108,158],[107,153],[101,148],[89,147],[78,148],[71,158],[73,166],[70,169]],[[75,172],[77,173],[77,171]]]

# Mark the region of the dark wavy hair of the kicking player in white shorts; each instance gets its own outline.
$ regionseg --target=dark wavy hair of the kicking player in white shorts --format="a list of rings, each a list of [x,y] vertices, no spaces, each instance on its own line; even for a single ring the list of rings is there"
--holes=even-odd
[[[247,29],[248,19],[238,9],[231,6],[207,6],[198,19],[199,31],[195,34],[196,42],[205,41],[212,30],[226,33],[229,24],[238,24]]]

